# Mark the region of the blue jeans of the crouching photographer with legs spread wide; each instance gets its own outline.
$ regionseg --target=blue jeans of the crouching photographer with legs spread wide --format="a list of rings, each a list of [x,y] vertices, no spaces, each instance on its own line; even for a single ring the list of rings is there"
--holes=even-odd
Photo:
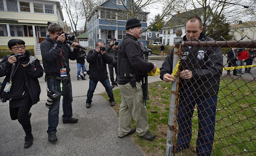
[[[90,79],[89,89],[87,91],[86,103],[92,103],[92,96],[93,96],[94,90],[96,89],[96,86],[97,86],[98,82],[99,81],[95,81],[95,80]],[[105,90],[108,93],[108,97],[109,97],[108,101],[109,102],[115,101],[113,91],[112,91],[112,88],[110,86],[109,79],[107,78],[105,80],[102,80],[102,81],[100,81],[100,83],[105,87]]]

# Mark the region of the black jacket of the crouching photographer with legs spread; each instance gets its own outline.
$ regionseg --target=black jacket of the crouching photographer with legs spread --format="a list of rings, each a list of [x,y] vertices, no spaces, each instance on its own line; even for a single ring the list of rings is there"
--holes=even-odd
[[[101,55],[95,49],[90,50],[86,60],[89,63],[89,79],[101,81],[108,78],[107,64],[112,63],[112,57],[108,52]]]

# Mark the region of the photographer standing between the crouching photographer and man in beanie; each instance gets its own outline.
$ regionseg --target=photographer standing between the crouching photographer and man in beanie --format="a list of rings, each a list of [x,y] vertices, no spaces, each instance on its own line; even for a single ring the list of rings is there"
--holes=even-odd
[[[106,52],[112,57],[112,63],[108,64],[108,70],[111,81],[111,88],[117,86],[117,53],[118,53],[118,42],[116,42],[116,38],[112,37],[110,44],[106,47]],[[116,72],[116,80],[114,79],[114,68]]]

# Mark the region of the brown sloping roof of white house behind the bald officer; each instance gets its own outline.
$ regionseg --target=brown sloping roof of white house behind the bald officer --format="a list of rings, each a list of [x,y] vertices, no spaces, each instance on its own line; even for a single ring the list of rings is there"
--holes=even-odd
[[[207,7],[208,7],[207,9],[211,10],[210,6],[207,6]],[[196,8],[194,10],[190,10],[190,11],[186,11],[186,12],[181,12],[181,13],[173,15],[172,18],[163,26],[163,28],[185,25],[188,18],[190,18],[192,16],[201,17],[202,15],[204,15],[203,7]]]

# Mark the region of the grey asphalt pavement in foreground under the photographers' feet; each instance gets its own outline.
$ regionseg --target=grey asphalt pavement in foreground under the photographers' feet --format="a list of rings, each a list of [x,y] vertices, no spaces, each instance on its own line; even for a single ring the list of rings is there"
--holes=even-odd
[[[9,105],[0,106],[0,155],[143,155],[131,136],[118,138],[118,118],[103,97],[93,96],[90,109],[85,107],[85,99],[85,96],[73,98],[73,117],[79,119],[76,124],[62,123],[60,106],[55,143],[48,142],[45,101],[34,105],[31,108],[34,143],[28,149],[23,148],[25,133],[21,125],[10,118]]]

